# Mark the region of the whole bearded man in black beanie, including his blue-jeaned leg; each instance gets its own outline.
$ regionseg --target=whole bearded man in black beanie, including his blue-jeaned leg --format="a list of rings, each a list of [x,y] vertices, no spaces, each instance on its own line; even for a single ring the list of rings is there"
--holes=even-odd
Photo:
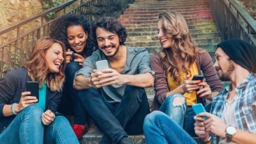
[[[256,48],[243,40],[230,39],[218,44],[214,67],[222,81],[231,83],[214,97],[210,113],[195,116],[195,133],[205,143],[256,143],[255,56]],[[146,116],[143,130],[147,144],[196,143],[159,111]]]

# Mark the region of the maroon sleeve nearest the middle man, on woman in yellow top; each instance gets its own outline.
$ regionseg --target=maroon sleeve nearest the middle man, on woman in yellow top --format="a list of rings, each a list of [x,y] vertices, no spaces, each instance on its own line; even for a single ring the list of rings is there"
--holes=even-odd
[[[154,74],[154,88],[156,91],[157,100],[160,104],[166,99],[166,93],[170,92],[166,77],[164,75],[163,63],[161,63],[157,54],[151,58],[151,67],[156,72]]]

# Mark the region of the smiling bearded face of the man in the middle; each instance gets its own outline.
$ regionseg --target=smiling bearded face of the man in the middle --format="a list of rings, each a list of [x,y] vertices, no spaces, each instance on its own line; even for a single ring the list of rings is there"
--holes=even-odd
[[[118,35],[99,27],[96,29],[96,36],[99,49],[104,52],[107,57],[115,56],[120,47]]]

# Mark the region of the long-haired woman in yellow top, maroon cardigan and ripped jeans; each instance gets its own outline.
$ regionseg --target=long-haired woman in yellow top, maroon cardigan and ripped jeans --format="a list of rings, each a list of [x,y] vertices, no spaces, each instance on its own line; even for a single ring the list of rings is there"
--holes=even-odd
[[[161,12],[157,32],[163,49],[151,60],[156,72],[152,110],[163,111],[191,136],[196,136],[191,105],[211,100],[222,90],[221,81],[209,53],[193,44],[186,20],[180,13]],[[193,76],[202,75],[201,71],[206,82],[191,81]]]

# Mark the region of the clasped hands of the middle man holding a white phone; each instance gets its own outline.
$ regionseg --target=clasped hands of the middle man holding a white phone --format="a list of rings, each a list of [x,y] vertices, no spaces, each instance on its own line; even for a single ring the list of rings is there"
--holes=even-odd
[[[124,77],[122,74],[112,68],[102,70],[102,74],[100,74],[98,77],[102,86],[108,86],[110,84],[124,84]]]

